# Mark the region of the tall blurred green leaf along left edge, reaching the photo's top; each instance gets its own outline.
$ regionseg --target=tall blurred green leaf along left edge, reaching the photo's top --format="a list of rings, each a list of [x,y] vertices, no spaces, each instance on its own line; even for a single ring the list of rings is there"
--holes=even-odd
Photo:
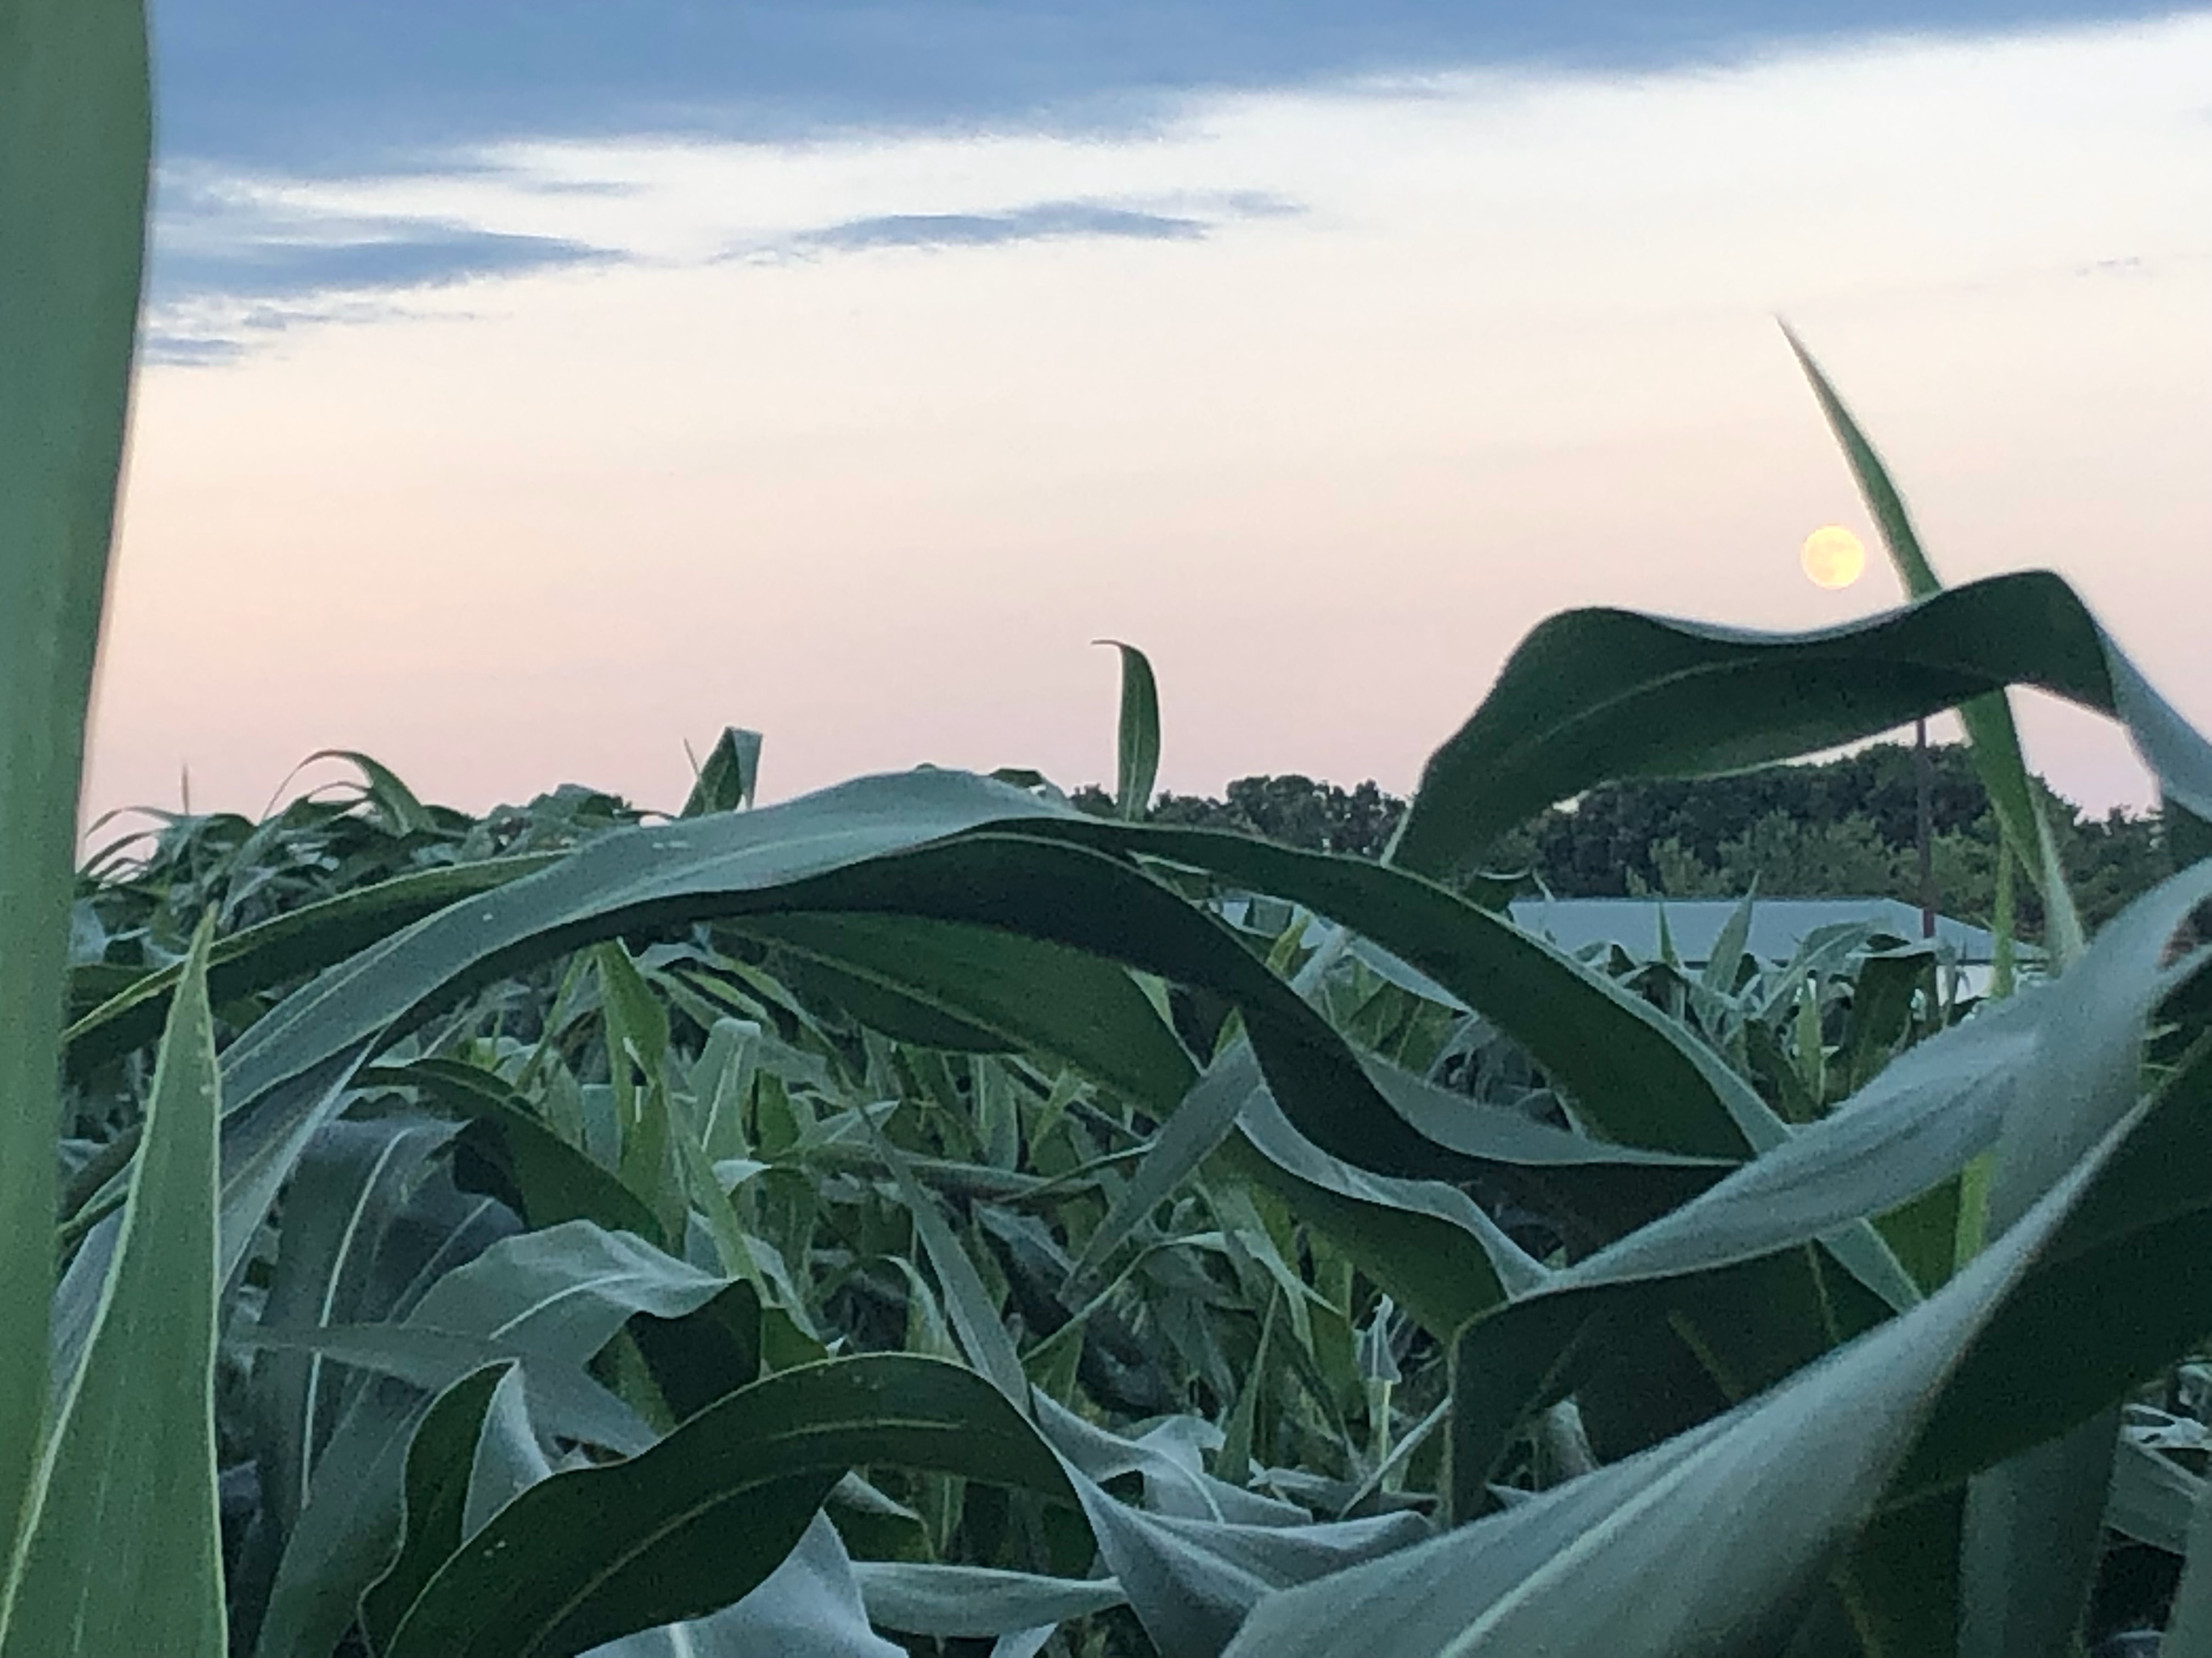
[[[0,1523],[44,1410],[84,710],[146,243],[146,20],[0,0]]]

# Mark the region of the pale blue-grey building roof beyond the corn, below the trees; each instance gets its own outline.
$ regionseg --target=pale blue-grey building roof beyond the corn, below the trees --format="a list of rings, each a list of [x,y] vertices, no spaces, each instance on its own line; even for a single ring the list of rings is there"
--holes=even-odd
[[[1513,920],[1568,953],[1619,944],[1637,959],[1659,955],[1659,917],[1666,915],[1674,955],[1686,966],[1712,959],[1721,928],[1743,904],[1739,898],[1520,898]],[[1752,904],[1745,948],[1763,962],[1787,962],[1823,926],[1871,926],[1900,944],[1920,942],[1920,909],[1896,898],[1761,898]],[[1962,966],[1995,959],[1995,937],[1980,926],[1936,917],[1936,940]]]

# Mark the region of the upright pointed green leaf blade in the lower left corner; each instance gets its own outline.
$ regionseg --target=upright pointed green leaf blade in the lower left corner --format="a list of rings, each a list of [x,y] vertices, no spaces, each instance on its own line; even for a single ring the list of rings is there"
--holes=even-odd
[[[217,1121],[201,922],[84,1364],[24,1505],[4,1658],[226,1645],[215,1492]],[[44,1357],[44,1355],[40,1355]]]

